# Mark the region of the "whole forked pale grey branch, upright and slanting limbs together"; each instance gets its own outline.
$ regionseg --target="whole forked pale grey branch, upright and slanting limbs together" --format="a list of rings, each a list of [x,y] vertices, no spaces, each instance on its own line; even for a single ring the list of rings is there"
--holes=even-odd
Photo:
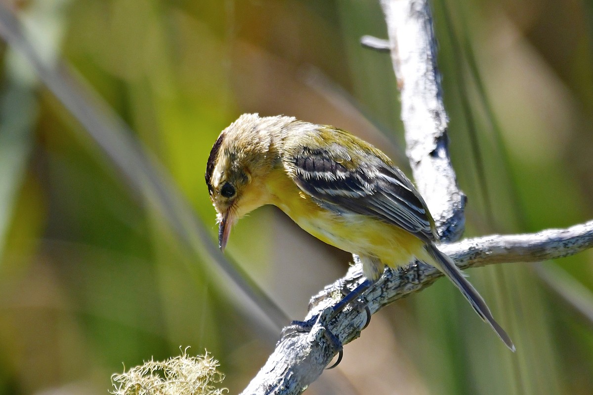
[[[464,231],[467,197],[457,185],[448,154],[448,117],[442,101],[441,75],[436,66],[436,40],[428,0],[381,0],[387,21],[391,58],[401,89],[401,118],[404,123],[407,156],[416,186],[435,219],[441,239],[453,242]],[[384,50],[387,42],[366,37],[364,45]],[[569,229],[546,230],[533,235],[486,236],[441,245],[462,268],[502,262],[533,262],[572,255],[593,246],[593,221]],[[355,259],[356,261],[356,259]],[[384,274],[359,297],[361,306],[372,313],[386,304],[423,290],[441,272],[423,262],[406,268],[385,269]],[[315,320],[311,333],[282,336],[266,365],[243,394],[298,394],[321,373],[341,345],[358,338],[367,320],[366,311],[350,304],[330,322],[326,315],[334,291],[355,288],[361,281],[360,265],[353,265],[345,277],[311,299],[307,319]],[[323,336],[320,336],[323,333]],[[329,335],[330,334],[330,335]],[[329,342],[327,339],[337,339]],[[312,364],[303,367],[302,364]],[[286,375],[274,376],[273,372]],[[298,379],[302,379],[298,381]],[[281,383],[281,384],[279,384]]]

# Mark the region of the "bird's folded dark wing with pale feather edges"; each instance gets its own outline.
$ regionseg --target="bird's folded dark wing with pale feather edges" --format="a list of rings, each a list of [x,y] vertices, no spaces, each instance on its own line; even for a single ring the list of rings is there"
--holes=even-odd
[[[373,153],[365,152],[355,165],[350,155],[331,152],[303,147],[289,159],[291,176],[303,192],[337,212],[365,214],[435,240],[426,203],[399,169]]]

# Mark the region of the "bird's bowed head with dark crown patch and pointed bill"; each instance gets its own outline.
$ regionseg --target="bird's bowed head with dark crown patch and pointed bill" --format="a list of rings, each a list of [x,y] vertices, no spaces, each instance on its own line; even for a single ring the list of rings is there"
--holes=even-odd
[[[280,164],[274,142],[291,121],[294,118],[243,114],[214,143],[206,185],[216,209],[221,249],[238,219],[270,203],[266,176]]]

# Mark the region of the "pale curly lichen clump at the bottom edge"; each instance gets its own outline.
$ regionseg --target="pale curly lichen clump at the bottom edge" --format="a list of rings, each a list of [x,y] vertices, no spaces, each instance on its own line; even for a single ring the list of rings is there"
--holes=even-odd
[[[123,373],[111,375],[114,395],[222,395],[227,388],[217,388],[224,374],[218,361],[208,355],[187,355],[187,348],[178,357],[167,361],[150,361]]]

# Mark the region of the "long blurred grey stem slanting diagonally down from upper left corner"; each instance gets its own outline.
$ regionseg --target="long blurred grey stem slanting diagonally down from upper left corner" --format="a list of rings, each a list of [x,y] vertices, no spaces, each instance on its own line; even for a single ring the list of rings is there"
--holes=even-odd
[[[219,252],[165,169],[132,137],[126,124],[107,105],[102,104],[101,99],[93,95],[90,89],[77,84],[68,68],[57,61],[55,66],[44,62],[45,58],[24,36],[20,22],[2,3],[0,35],[30,62],[43,84],[84,126],[88,136],[125,176],[130,187],[145,198],[149,207],[160,213],[192,253],[204,262],[213,263],[206,267],[211,268],[211,274],[218,278],[216,284],[226,285],[228,293],[251,312],[251,318],[258,325],[263,324],[263,317],[268,319],[265,327],[270,330],[288,323],[283,311],[257,287],[246,272]],[[270,326],[270,323],[273,325]]]

